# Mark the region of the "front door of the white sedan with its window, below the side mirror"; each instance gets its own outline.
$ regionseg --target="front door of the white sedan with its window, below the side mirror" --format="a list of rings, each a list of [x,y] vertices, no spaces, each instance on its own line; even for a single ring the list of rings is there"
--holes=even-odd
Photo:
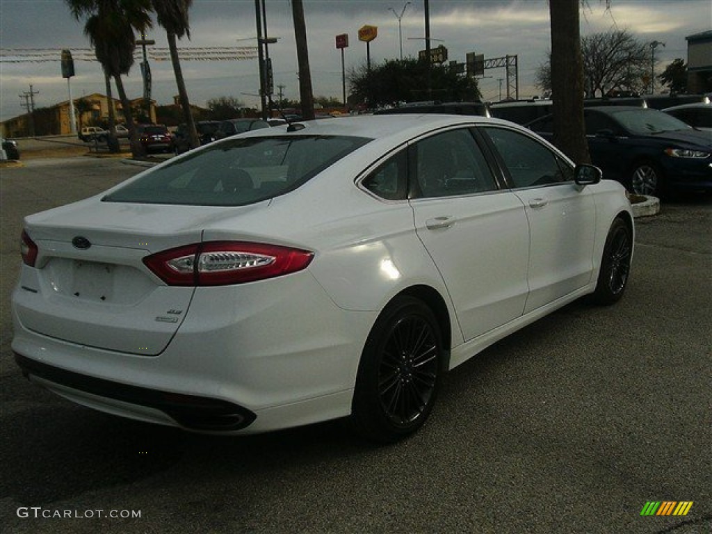
[[[508,127],[483,127],[529,223],[529,297],[525,313],[586,286],[593,269],[595,201],[549,147]]]

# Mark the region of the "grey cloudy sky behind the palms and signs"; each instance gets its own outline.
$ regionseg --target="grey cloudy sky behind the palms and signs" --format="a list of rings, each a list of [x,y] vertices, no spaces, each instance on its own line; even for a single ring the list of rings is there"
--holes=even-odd
[[[250,46],[256,36],[253,0],[194,0],[191,36],[179,46]],[[335,48],[335,36],[349,35],[345,49],[345,67],[350,70],[365,63],[366,45],[358,41],[358,28],[377,26],[378,36],[370,45],[372,64],[399,56],[398,14],[406,4],[402,0],[304,0],[309,40],[309,58],[315,95],[341,98],[341,56]],[[582,9],[582,35],[600,31],[627,29],[644,42],[661,41],[656,49],[658,71],[675,58],[687,60],[685,37],[712,29],[712,3],[709,0],[588,0]],[[268,34],[278,43],[270,46],[275,85],[283,85],[285,98],[298,99],[297,58],[288,0],[266,0]],[[409,2],[401,20],[403,55],[417,56],[424,45],[424,4]],[[449,59],[465,61],[468,52],[485,58],[517,55],[519,95],[538,94],[535,70],[550,48],[547,0],[471,0],[430,1],[431,46],[448,48]],[[161,28],[154,28],[147,38],[156,47],[167,46]],[[42,63],[10,63],[17,49],[88,48],[83,23],[75,21],[63,0],[0,0],[0,120],[20,115],[20,96],[33,86],[37,108],[68,98],[67,81],[61,78],[59,52],[56,59]],[[256,60],[184,61],[184,76],[192,103],[232,96],[246,103],[258,103],[259,78]],[[177,93],[169,61],[151,63],[153,98],[159,104],[172,102]],[[76,75],[71,79],[75,98],[90,93],[104,93],[103,75],[98,63],[75,61]],[[503,69],[486,71],[480,80],[483,98],[498,100]],[[125,80],[130,98],[142,95],[138,64]],[[506,87],[503,88],[503,92]]]

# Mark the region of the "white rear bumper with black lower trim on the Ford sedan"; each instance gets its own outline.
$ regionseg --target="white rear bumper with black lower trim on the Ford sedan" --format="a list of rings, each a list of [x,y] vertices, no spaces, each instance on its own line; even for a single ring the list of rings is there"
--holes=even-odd
[[[15,305],[16,361],[78,404],[192,431],[253,434],[350,413],[375,312],[338,308],[308,272],[200,289],[173,340],[150,356],[34,332]]]

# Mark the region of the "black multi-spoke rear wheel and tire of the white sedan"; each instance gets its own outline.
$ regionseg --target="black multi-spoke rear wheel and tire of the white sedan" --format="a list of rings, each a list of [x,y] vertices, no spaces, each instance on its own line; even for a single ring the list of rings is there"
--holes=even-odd
[[[422,426],[444,372],[438,322],[422,301],[398,297],[381,313],[361,356],[351,423],[358,434],[397,441]]]

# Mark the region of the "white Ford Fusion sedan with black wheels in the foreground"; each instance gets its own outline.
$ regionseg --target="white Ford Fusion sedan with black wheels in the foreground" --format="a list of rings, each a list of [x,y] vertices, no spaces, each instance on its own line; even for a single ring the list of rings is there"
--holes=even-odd
[[[394,441],[444,373],[624,293],[617,182],[532,132],[345,117],[206,145],[24,221],[16,362],[74,402],[249,433],[348,418]]]

